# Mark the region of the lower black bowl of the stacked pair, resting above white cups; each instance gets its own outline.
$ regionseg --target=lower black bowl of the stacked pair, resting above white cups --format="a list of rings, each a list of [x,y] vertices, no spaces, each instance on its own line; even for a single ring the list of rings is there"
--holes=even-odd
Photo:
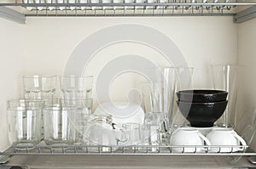
[[[191,127],[213,127],[213,123],[223,115],[228,101],[215,103],[189,103],[177,101],[178,109],[190,122]]]

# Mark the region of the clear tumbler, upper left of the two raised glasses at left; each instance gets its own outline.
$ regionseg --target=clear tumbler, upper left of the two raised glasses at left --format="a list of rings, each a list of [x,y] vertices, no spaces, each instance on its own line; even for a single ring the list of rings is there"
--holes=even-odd
[[[26,99],[54,99],[57,76],[23,76]]]

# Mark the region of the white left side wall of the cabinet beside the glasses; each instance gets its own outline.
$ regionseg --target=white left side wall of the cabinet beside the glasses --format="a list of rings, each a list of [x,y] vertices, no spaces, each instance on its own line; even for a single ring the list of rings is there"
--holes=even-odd
[[[24,25],[0,19],[0,151],[9,145],[6,101],[20,96],[20,76],[24,66],[23,28]]]

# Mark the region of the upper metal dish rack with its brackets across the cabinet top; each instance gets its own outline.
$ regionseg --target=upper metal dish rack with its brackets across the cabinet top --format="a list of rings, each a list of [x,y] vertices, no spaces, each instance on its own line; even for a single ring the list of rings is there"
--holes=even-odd
[[[20,23],[25,23],[27,16],[231,15],[235,16],[236,22],[256,16],[255,0],[144,0],[140,3],[134,0],[131,3],[126,2],[126,0],[9,0],[1,1],[0,14]]]

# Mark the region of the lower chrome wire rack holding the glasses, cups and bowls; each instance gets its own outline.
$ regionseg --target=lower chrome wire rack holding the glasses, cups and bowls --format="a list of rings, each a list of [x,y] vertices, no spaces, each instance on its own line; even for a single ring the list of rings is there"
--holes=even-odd
[[[0,155],[256,155],[256,153],[249,152],[247,146],[35,145],[10,147]]]

